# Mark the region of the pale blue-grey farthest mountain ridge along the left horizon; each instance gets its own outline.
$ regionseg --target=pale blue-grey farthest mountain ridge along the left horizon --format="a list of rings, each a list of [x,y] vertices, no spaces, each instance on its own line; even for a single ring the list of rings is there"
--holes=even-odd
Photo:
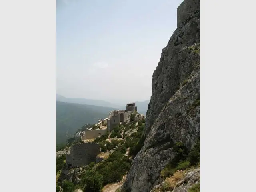
[[[62,101],[66,103],[77,103],[83,105],[94,105],[94,106],[103,106],[103,107],[114,107],[119,109],[121,106],[113,104],[103,100],[93,100],[93,99],[84,99],[84,98],[66,98],[59,94],[56,94],[56,101]]]

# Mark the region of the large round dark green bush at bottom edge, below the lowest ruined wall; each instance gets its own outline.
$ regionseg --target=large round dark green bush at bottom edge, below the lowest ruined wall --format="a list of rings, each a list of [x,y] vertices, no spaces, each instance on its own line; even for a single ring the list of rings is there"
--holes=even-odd
[[[84,185],[84,192],[101,192],[103,188],[103,177],[94,170],[86,171],[81,182]]]

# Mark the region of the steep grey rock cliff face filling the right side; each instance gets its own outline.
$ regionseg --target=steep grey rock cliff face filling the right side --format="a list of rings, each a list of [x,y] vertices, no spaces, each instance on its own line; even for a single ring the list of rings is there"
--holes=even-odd
[[[174,144],[191,150],[200,136],[200,10],[163,48],[146,116],[144,146],[122,186],[126,192],[148,192],[160,184],[161,170],[174,158]]]

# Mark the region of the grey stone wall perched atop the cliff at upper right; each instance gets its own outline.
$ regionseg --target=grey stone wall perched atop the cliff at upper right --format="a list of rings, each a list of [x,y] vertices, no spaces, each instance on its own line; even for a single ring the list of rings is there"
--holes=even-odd
[[[182,23],[198,10],[200,10],[200,0],[184,0],[177,8],[177,26],[182,26]]]

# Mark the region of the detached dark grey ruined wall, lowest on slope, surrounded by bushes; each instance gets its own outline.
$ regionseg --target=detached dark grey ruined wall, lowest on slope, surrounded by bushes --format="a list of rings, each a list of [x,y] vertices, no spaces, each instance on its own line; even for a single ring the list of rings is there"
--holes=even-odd
[[[66,152],[66,164],[72,166],[85,166],[90,162],[96,162],[97,155],[100,153],[100,144],[96,142],[78,143]]]

